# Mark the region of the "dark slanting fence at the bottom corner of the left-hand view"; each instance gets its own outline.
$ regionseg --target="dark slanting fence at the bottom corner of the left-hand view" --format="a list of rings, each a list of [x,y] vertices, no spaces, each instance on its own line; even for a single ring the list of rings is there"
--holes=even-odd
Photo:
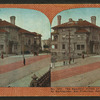
[[[30,83],[30,87],[50,87],[51,86],[51,69],[40,78],[38,78],[35,74],[32,78],[33,80]]]

